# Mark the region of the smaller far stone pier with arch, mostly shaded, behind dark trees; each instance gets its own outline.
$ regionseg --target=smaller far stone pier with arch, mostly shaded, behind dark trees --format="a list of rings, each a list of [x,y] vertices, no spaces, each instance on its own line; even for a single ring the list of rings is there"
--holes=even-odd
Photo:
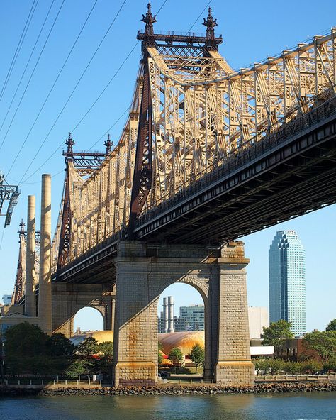
[[[74,335],[74,316],[86,307],[103,316],[103,329],[112,330],[116,293],[111,284],[52,282],[52,331],[68,338]]]

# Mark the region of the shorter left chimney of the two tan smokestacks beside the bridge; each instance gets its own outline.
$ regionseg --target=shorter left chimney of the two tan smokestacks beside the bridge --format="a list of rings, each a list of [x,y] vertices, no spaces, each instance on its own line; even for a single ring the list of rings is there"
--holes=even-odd
[[[25,313],[36,316],[35,304],[35,195],[28,195]]]

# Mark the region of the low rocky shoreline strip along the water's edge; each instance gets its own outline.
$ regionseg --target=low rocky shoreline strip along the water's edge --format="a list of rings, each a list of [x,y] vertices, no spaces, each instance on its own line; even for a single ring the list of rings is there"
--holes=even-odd
[[[336,392],[336,382],[263,383],[252,387],[217,385],[164,385],[155,387],[44,387],[43,389],[0,387],[1,397],[40,395],[209,395],[209,394],[279,394],[283,392]]]

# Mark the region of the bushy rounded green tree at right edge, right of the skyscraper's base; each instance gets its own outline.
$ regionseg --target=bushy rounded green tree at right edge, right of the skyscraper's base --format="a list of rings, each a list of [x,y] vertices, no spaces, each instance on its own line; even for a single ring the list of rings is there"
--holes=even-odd
[[[324,362],[336,357],[336,331],[313,331],[307,333],[303,341],[308,348],[315,350]]]

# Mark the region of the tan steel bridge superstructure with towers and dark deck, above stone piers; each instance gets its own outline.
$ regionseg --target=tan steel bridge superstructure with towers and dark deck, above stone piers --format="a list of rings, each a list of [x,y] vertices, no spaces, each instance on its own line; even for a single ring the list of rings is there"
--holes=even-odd
[[[336,201],[335,28],[235,71],[211,9],[205,36],[155,33],[150,7],[142,21],[116,146],[74,153],[67,140],[60,282],[111,279],[120,239],[218,247]]]

